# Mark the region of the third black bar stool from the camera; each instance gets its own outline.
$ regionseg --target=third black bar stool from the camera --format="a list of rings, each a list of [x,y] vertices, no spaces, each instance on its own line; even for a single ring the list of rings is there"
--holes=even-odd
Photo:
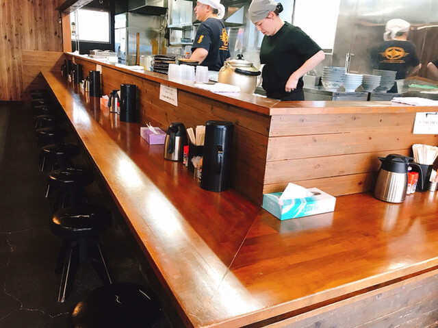
[[[45,197],[48,198],[53,189],[57,190],[53,212],[64,207],[80,207],[88,205],[83,188],[92,184],[94,175],[86,167],[58,168],[47,175]]]

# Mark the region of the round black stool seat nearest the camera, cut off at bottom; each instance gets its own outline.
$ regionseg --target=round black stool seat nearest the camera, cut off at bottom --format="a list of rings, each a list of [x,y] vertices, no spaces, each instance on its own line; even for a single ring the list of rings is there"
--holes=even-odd
[[[114,283],[96,288],[75,306],[70,328],[146,328],[162,315],[159,299],[136,283]]]

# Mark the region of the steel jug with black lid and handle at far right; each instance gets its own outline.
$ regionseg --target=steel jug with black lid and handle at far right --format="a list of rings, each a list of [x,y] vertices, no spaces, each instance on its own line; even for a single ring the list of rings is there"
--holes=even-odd
[[[389,154],[378,159],[382,164],[374,187],[374,197],[389,203],[402,203],[407,190],[408,166],[421,171],[420,166],[411,162],[413,157],[398,154]],[[420,172],[419,175],[420,181],[422,173]]]

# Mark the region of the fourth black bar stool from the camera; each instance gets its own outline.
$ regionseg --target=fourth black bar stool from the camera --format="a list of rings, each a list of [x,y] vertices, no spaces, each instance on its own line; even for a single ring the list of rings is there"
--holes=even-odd
[[[47,144],[41,148],[40,171],[44,171],[48,164],[52,164],[52,170],[66,168],[70,158],[79,155],[80,150],[76,144]]]

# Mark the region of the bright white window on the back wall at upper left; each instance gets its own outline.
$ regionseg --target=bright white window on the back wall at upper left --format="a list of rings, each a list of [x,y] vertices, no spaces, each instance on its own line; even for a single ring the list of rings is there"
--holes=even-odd
[[[110,43],[110,12],[78,9],[70,14],[70,24],[72,40]]]

